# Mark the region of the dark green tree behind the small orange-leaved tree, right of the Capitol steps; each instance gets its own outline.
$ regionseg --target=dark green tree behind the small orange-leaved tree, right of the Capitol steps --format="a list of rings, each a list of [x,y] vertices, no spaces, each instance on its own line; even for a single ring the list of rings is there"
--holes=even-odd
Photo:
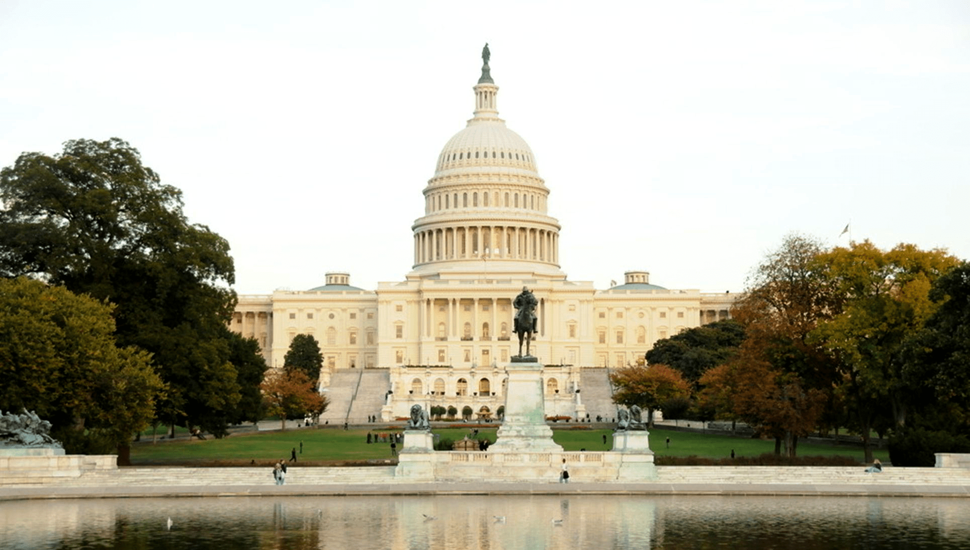
[[[727,319],[658,340],[646,360],[648,365],[666,365],[680,371],[697,389],[704,372],[730,361],[743,340],[741,324]]]

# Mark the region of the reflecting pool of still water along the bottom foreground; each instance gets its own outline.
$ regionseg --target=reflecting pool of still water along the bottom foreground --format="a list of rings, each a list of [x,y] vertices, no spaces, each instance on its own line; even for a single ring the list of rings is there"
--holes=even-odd
[[[970,548],[970,501],[694,496],[7,501],[0,502],[0,548],[962,549]]]

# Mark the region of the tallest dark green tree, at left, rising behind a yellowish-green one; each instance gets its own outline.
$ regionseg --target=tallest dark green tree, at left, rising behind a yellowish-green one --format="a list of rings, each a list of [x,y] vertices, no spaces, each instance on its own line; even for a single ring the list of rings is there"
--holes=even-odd
[[[152,354],[159,418],[219,430],[240,401],[222,330],[235,307],[229,244],[182,213],[126,142],[75,140],[0,171],[0,275],[115,304],[116,339]]]

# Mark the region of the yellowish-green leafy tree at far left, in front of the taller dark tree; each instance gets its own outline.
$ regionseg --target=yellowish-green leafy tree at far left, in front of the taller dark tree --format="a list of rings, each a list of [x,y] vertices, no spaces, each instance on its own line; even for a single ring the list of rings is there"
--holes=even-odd
[[[61,286],[0,278],[0,410],[36,411],[69,452],[123,449],[163,384],[146,352],[115,345],[112,313]]]

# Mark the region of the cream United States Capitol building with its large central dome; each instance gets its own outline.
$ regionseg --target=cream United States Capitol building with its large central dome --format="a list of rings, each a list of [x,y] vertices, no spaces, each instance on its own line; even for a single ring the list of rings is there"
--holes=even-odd
[[[523,287],[538,300],[532,354],[545,365],[548,416],[611,416],[609,369],[730,314],[734,296],[670,290],[645,271],[602,290],[566,277],[549,187],[530,146],[499,117],[499,86],[483,57],[473,116],[445,143],[422,191],[404,280],[369,290],[335,272],[309,290],[239,297],[231,328],[259,341],[272,368],[296,335],[320,342],[331,422],[394,420],[411,404],[494,417],[504,366],[519,352],[512,300]]]

